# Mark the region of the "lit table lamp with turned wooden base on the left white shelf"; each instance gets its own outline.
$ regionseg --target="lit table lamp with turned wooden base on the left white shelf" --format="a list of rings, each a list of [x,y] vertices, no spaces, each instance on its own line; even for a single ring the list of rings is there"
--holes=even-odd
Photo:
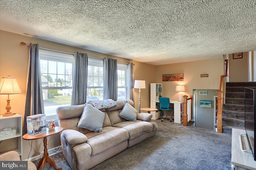
[[[2,77],[2,83],[0,87],[0,94],[1,95],[8,95],[7,105],[5,107],[6,113],[4,113],[3,117],[12,116],[14,113],[10,112],[11,105],[10,105],[10,99],[9,95],[12,94],[18,94],[21,93],[20,87],[17,83],[16,78],[12,78],[10,76],[8,77]]]

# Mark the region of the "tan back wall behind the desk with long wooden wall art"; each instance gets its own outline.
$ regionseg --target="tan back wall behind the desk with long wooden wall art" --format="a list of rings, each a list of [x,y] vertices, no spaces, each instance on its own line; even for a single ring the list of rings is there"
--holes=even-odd
[[[163,74],[184,74],[184,81],[162,81]],[[209,77],[200,77],[200,74],[208,73]],[[156,82],[162,83],[162,96],[170,100],[178,100],[176,85],[185,85],[183,95],[193,94],[193,89],[219,89],[220,76],[224,74],[224,59],[208,59],[184,63],[174,63],[156,66]]]

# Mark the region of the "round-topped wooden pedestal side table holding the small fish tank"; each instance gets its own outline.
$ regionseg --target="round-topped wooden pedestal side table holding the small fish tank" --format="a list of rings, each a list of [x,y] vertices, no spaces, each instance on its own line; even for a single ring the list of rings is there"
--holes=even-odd
[[[37,169],[39,169],[40,166],[42,165],[41,169],[44,170],[45,164],[49,163],[50,165],[52,165],[54,170],[62,170],[62,168],[56,167],[55,162],[49,156],[48,150],[47,150],[47,138],[46,138],[47,136],[52,136],[54,134],[60,133],[60,132],[62,132],[62,130],[63,130],[62,127],[55,127],[54,130],[49,130],[48,128],[46,128],[46,132],[43,132],[41,134],[37,134],[35,136],[29,135],[29,134],[24,134],[22,136],[22,138],[24,140],[35,140],[35,139],[44,138],[44,156],[39,160],[38,165],[36,166]]]

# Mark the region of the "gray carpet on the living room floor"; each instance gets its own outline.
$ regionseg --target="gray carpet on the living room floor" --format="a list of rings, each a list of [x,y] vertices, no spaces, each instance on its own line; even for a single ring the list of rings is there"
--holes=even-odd
[[[91,170],[230,170],[231,135],[156,120],[159,131]],[[62,153],[52,156],[57,167],[71,168]],[[36,164],[38,160],[34,161]],[[48,164],[46,170],[52,170]]]

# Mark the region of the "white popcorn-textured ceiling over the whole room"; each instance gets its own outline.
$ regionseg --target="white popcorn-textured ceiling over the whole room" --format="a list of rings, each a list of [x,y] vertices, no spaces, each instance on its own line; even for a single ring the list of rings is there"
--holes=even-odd
[[[161,65],[256,50],[256,0],[0,0],[0,29]]]

